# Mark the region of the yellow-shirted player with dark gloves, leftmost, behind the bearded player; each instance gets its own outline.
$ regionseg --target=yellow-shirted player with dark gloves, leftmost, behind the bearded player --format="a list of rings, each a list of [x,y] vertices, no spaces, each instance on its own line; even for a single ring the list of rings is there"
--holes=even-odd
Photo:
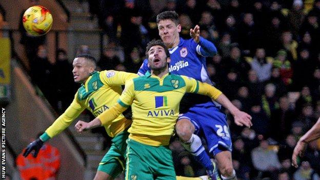
[[[24,156],[35,150],[33,156],[36,157],[44,142],[61,133],[74,119],[86,108],[97,116],[114,105],[122,93],[121,85],[128,79],[137,77],[133,73],[121,71],[95,71],[95,58],[88,54],[80,54],[73,60],[73,76],[76,83],[82,86],[76,92],[73,102],[69,108],[59,116],[56,121],[46,130],[40,138],[28,145]],[[126,139],[129,133],[128,127],[131,120],[119,114],[105,129],[109,136],[113,137],[112,145],[99,163],[94,179],[113,179],[125,168],[125,152],[127,148]],[[179,180],[200,179],[177,177]]]

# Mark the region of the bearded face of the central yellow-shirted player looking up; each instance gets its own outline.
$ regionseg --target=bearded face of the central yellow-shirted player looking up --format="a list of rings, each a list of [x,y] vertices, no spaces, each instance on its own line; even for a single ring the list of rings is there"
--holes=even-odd
[[[151,70],[162,70],[167,68],[170,58],[162,46],[156,45],[148,51],[148,62]]]

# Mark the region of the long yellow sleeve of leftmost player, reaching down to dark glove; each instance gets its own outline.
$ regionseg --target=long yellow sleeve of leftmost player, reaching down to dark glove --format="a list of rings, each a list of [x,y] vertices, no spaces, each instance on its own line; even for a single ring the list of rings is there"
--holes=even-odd
[[[81,105],[77,99],[78,92],[75,94],[74,99],[68,109],[59,116],[53,124],[46,130],[46,133],[50,138],[55,135],[61,133],[65,130],[70,124],[74,121],[74,119],[85,110],[85,106]]]

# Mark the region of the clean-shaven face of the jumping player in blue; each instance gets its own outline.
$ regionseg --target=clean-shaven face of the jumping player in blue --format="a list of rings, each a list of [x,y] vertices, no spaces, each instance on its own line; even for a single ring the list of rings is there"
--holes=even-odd
[[[181,25],[176,25],[170,19],[159,21],[159,36],[168,48],[175,47],[179,44],[179,32]]]

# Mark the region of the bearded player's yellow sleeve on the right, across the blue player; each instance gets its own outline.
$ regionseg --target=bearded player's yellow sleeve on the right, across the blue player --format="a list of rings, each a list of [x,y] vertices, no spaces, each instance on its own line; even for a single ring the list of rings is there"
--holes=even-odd
[[[212,99],[216,99],[222,94],[220,90],[207,83],[199,82],[194,78],[187,76],[182,76],[182,78],[186,82],[186,92],[207,95]]]

